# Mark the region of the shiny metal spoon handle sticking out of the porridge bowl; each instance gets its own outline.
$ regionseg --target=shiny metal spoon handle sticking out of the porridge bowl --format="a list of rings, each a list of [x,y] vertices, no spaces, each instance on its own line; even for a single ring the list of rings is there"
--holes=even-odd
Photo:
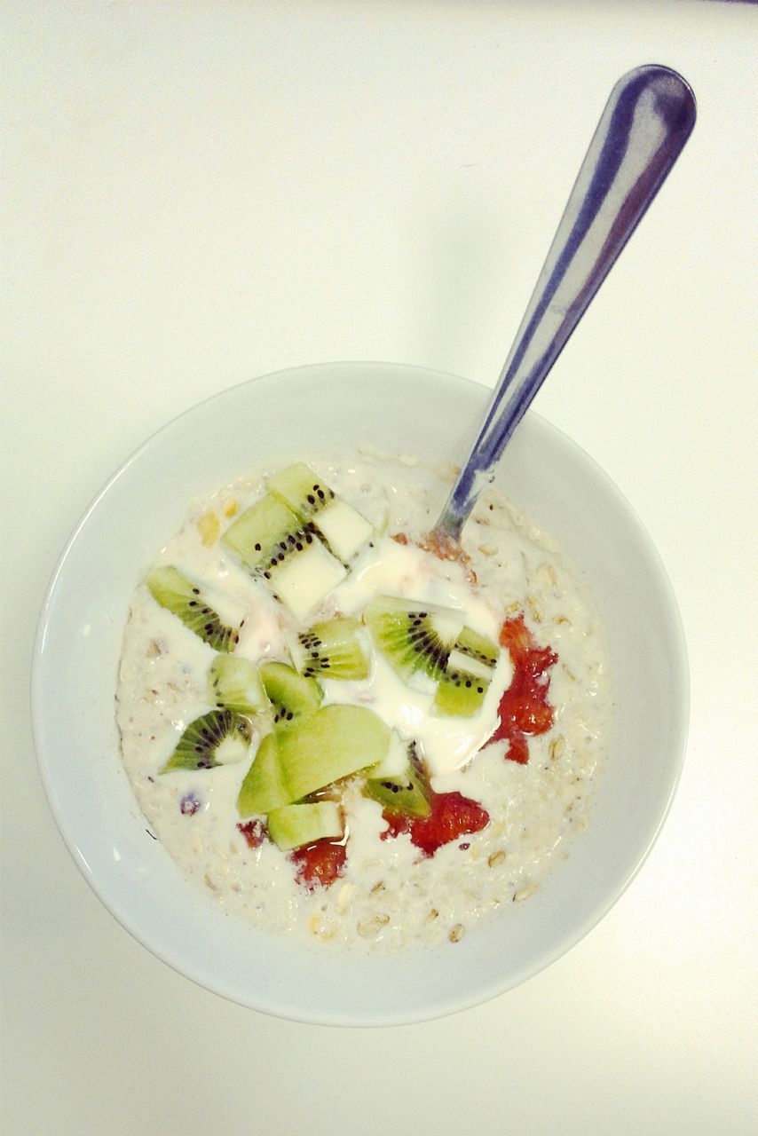
[[[676,161],[694,95],[668,67],[638,67],[610,93],[468,460],[434,533],[457,542],[508,438]]]

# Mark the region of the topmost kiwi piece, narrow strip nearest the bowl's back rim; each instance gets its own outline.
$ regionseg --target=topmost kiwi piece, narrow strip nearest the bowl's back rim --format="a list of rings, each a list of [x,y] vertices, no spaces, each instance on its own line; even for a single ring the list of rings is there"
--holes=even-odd
[[[317,532],[344,563],[374,535],[374,526],[305,462],[288,466],[266,481],[270,492]]]

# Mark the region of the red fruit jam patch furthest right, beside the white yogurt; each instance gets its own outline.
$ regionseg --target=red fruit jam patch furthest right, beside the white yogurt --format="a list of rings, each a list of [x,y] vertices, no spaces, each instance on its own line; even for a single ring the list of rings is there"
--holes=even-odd
[[[548,670],[558,661],[558,655],[549,646],[536,645],[523,616],[506,619],[500,628],[500,645],[510,653],[514,680],[500,700],[500,721],[488,745],[505,740],[509,743],[506,757],[526,765],[528,744],[525,735],[545,734],[552,726]]]

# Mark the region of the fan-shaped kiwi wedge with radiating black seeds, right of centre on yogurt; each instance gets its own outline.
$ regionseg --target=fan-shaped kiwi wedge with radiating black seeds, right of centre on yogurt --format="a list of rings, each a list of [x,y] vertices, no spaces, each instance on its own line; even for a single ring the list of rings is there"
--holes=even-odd
[[[459,611],[393,595],[375,596],[364,619],[378,650],[406,682],[417,671],[441,678],[464,626]]]

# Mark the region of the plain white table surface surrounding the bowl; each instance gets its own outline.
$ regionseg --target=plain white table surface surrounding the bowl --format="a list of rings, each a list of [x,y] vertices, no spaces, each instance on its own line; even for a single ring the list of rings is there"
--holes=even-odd
[[[757,16],[5,6],[3,1136],[758,1130]],[[55,561],[145,436],[244,378],[388,359],[492,385],[606,97],[653,61],[698,125],[536,409],[680,600],[692,721],[663,835],[578,946],[466,1013],[352,1030],[230,1004],[122,929],[48,810],[27,690]]]

